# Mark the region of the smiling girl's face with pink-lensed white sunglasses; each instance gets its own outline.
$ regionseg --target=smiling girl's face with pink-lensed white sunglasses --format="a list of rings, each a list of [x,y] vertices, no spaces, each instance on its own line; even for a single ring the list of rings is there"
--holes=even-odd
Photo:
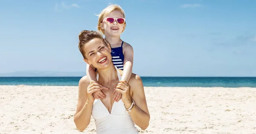
[[[107,36],[120,36],[125,26],[125,18],[119,10],[112,11],[101,23],[101,28]]]

